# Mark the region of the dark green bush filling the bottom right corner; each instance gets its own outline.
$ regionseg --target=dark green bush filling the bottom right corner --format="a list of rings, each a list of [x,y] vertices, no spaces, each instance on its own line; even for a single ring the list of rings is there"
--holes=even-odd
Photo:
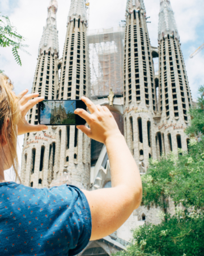
[[[201,256],[204,255],[204,221],[199,218],[169,218],[159,225],[134,230],[133,243],[118,256]]]

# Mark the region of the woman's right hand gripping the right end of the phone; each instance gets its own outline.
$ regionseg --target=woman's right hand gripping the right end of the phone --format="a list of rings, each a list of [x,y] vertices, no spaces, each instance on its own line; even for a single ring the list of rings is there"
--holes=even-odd
[[[76,109],[74,113],[84,118],[90,129],[85,125],[76,126],[79,130],[83,131],[91,139],[104,144],[110,137],[117,138],[118,136],[122,136],[116,120],[106,106],[95,105],[84,96],[82,97],[82,101],[87,105],[91,114],[84,109]]]

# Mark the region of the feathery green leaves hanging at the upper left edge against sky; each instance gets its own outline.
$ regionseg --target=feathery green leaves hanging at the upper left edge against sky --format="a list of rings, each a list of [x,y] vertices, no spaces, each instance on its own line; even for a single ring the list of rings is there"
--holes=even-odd
[[[24,48],[28,47],[27,44],[23,44],[25,39],[22,35],[18,34],[16,28],[12,26],[8,16],[0,15],[0,47],[12,47],[12,54],[14,55],[15,61],[21,66],[22,61],[18,50],[22,50],[29,55]],[[2,73],[3,71],[0,71]]]

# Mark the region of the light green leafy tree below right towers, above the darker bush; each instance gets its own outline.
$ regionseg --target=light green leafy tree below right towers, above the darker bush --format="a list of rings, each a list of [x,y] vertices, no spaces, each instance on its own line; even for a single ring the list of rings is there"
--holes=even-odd
[[[155,204],[167,213],[171,197],[176,205],[182,203],[186,208],[204,209],[203,180],[204,142],[191,139],[189,154],[182,152],[177,156],[172,152],[163,156],[160,162],[151,161],[147,174],[142,176],[142,205]]]

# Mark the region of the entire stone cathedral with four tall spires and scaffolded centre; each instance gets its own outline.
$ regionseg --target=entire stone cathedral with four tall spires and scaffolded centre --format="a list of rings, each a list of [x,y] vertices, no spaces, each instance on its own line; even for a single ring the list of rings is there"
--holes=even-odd
[[[45,100],[78,100],[86,96],[94,104],[107,106],[141,175],[147,171],[150,158],[159,160],[162,154],[178,148],[188,150],[189,138],[184,130],[189,125],[188,111],[192,105],[171,3],[158,0],[158,46],[153,47],[144,1],[127,0],[123,28],[93,35],[88,31],[88,4],[85,0],[71,0],[63,55],[59,58],[58,3],[50,0],[32,86],[32,92],[39,92]],[[103,47],[96,56],[100,71],[92,72],[92,47],[105,38],[109,42],[101,44]],[[154,69],[155,58],[159,59],[158,72]],[[110,61],[114,72],[107,71]],[[109,101],[112,97],[113,102]],[[34,106],[29,110],[29,123],[38,124],[37,109]],[[57,115],[59,120],[64,118],[61,104],[53,106],[52,122]],[[63,183],[87,190],[111,187],[107,150],[75,126],[53,125],[47,131],[28,133],[24,138],[21,179],[24,185],[35,188]],[[173,206],[169,208],[173,210]],[[101,240],[91,241],[80,255],[108,256],[125,249],[131,229],[150,222],[158,224],[158,212],[155,207],[139,207],[121,228]]]

